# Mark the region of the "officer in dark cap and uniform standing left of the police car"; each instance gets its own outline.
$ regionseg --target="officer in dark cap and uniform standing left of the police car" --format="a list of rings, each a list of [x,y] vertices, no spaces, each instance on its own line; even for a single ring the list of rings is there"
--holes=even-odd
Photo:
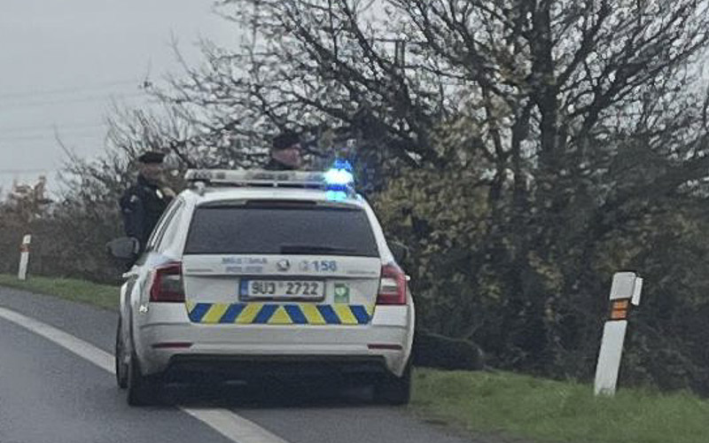
[[[164,158],[162,152],[145,152],[138,157],[137,183],[121,197],[123,227],[128,237],[138,240],[141,253],[160,215],[175,197],[175,192],[162,183]]]

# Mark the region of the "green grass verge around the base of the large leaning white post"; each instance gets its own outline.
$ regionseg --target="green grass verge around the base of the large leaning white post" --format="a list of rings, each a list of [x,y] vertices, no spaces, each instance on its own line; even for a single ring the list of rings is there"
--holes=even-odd
[[[705,443],[709,401],[686,393],[620,389],[596,398],[592,386],[504,372],[415,373],[419,415],[482,433],[532,441]]]

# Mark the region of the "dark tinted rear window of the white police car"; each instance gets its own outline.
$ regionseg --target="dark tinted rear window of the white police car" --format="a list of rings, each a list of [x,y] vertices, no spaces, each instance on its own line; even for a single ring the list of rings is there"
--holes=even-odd
[[[198,207],[184,253],[378,257],[362,209],[315,205]]]

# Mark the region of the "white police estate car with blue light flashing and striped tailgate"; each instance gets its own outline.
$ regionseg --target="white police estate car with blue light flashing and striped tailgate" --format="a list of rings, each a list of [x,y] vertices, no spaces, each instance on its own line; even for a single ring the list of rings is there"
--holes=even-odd
[[[191,170],[124,276],[116,377],[367,382],[409,400],[414,303],[352,175]]]

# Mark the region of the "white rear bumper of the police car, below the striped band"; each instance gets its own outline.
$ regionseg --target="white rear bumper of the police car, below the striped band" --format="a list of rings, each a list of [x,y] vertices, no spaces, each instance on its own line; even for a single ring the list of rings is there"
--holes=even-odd
[[[407,307],[378,309],[370,324],[356,326],[168,323],[160,309],[151,308],[135,331],[145,375],[189,369],[401,376],[413,333]]]

